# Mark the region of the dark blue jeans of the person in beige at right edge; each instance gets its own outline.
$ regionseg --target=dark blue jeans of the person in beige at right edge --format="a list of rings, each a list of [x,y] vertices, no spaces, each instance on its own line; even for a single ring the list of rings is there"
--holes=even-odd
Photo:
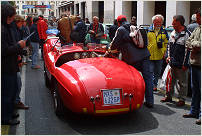
[[[192,101],[190,113],[201,117],[201,68],[191,66]]]

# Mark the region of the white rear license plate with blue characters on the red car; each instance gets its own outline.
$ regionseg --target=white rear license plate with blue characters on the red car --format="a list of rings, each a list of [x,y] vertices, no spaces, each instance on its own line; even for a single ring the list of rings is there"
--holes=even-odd
[[[120,90],[102,90],[104,105],[115,105],[120,104]]]

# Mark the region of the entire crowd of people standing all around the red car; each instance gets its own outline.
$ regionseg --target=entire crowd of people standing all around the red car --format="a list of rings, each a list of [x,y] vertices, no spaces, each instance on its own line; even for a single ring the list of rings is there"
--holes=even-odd
[[[20,121],[15,109],[29,109],[20,100],[21,77],[20,68],[29,59],[32,69],[40,69],[38,65],[39,48],[43,60],[43,44],[47,39],[48,21],[42,15],[28,16],[26,20],[16,14],[10,4],[1,5],[1,84],[2,84],[2,125],[16,125]],[[192,16],[192,23],[187,27],[182,15],[173,16],[174,30],[168,36],[163,27],[164,17],[160,14],[152,17],[148,28],[147,46],[137,48],[130,37],[131,26],[137,26],[136,17],[127,21],[126,16],[120,15],[109,28],[111,43],[108,52],[117,50],[122,60],[142,73],[145,81],[145,102],[148,108],[154,107],[153,92],[157,91],[158,80],[161,78],[163,61],[171,66],[171,77],[166,86],[166,95],[161,102],[172,102],[175,89],[178,91],[176,106],[184,106],[187,96],[188,70],[191,71],[192,102],[189,113],[184,118],[197,118],[196,124],[201,124],[201,12],[197,10]],[[89,24],[89,27],[86,26]],[[104,28],[97,16],[92,23],[80,16],[62,15],[51,25],[60,31],[62,44],[73,42],[85,43],[89,34],[93,43],[99,44],[104,35]],[[32,34],[30,38],[27,36]],[[31,52],[30,52],[31,50]],[[28,52],[28,53],[27,53]],[[30,55],[30,56],[29,56]],[[25,57],[23,59],[23,57]],[[25,62],[23,60],[26,60]]]

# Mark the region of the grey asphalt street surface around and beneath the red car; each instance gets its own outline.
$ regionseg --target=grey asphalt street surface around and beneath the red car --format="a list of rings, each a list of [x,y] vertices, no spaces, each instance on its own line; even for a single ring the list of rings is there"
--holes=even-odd
[[[184,119],[182,115],[189,111],[190,98],[186,106],[177,108],[174,103],[162,104],[162,93],[155,93],[153,109],[143,106],[141,109],[124,115],[109,117],[90,117],[67,115],[58,118],[53,110],[50,91],[43,79],[43,61],[41,69],[30,68],[31,62],[24,66],[22,96],[29,110],[19,110],[21,124],[7,127],[9,134],[21,135],[200,135],[201,126],[195,125],[195,119]]]

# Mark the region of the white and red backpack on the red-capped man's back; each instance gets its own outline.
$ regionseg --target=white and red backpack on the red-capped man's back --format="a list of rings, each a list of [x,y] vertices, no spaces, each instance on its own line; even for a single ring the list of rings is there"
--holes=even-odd
[[[128,29],[127,29],[128,30]],[[143,49],[147,47],[147,30],[134,25],[130,26],[129,36],[131,37],[135,47]]]

